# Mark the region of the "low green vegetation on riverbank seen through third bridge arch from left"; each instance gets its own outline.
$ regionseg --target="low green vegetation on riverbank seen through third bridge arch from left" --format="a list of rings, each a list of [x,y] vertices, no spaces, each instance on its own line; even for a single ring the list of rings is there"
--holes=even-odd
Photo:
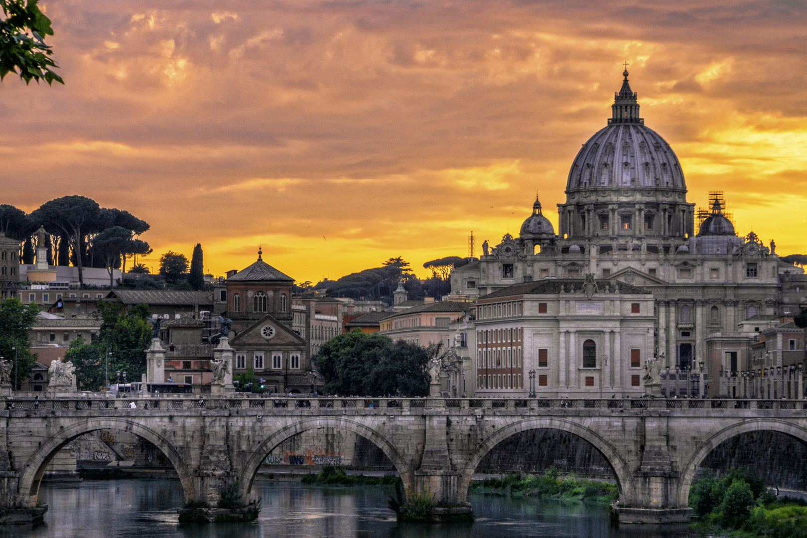
[[[515,473],[505,478],[486,478],[471,482],[470,490],[521,497],[576,498],[600,503],[610,503],[619,498],[617,485],[613,482],[581,480],[575,473],[561,477],[560,471],[555,467],[546,469],[543,476]]]

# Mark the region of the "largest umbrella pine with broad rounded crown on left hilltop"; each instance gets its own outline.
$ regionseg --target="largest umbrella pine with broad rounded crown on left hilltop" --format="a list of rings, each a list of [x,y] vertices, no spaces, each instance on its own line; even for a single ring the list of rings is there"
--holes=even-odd
[[[31,213],[43,223],[50,233],[61,231],[62,237],[69,237],[78,266],[78,282],[84,286],[84,233],[92,230],[101,212],[98,202],[84,196],[63,196],[45,202]]]

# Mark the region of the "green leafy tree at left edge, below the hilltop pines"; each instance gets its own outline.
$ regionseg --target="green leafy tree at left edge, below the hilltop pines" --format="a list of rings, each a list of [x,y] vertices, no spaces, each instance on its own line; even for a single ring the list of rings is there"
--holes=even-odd
[[[36,363],[36,353],[31,353],[28,335],[40,309],[36,304],[23,305],[18,298],[0,302],[0,357],[11,361],[11,381],[15,390],[31,377]]]

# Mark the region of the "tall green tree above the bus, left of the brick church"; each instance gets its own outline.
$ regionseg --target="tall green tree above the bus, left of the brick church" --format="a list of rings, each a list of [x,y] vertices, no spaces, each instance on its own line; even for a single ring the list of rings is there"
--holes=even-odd
[[[110,348],[110,378],[117,370],[125,370],[129,380],[140,380],[146,371],[145,350],[151,345],[153,329],[148,321],[148,306],[140,304],[126,310],[123,302],[99,302],[97,314],[101,322],[99,349]]]

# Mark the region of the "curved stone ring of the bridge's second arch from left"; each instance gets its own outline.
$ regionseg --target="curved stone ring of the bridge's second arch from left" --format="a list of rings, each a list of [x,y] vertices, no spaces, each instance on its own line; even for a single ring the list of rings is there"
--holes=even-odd
[[[254,448],[254,450],[250,451],[249,457],[241,469],[241,476],[239,480],[241,498],[250,498],[249,495],[252,491],[257,470],[261,467],[261,463],[264,461],[264,458],[266,458],[268,453],[274,450],[274,448],[278,447],[278,445],[283,441],[297,435],[298,433],[307,432],[309,430],[314,430],[321,427],[333,427],[345,430],[370,440],[370,442],[375,444],[378,448],[381,448],[383,453],[392,462],[392,465],[395,466],[395,470],[398,471],[398,474],[403,481],[403,488],[406,493],[409,494],[409,492],[412,490],[412,478],[414,477],[412,465],[403,459],[403,456],[399,452],[398,448],[395,447],[395,444],[388,440],[387,436],[383,435],[383,433],[378,432],[375,427],[362,423],[357,419],[348,417],[312,416],[295,419],[294,422],[289,423],[284,427],[280,427],[274,432],[270,432],[270,435],[266,437],[266,439],[262,440],[261,443]]]

